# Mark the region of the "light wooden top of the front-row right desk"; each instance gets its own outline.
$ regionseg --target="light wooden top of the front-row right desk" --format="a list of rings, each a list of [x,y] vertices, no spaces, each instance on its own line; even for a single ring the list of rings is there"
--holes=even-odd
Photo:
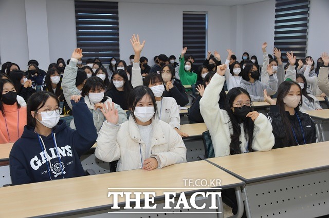
[[[246,183],[329,169],[329,142],[209,158]]]

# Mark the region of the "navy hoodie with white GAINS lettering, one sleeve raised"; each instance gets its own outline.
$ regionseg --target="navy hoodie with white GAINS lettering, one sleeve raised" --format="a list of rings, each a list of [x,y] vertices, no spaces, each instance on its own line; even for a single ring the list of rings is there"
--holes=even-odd
[[[94,145],[97,132],[93,115],[84,103],[84,98],[81,97],[78,103],[71,103],[77,130],[69,128],[65,121],[60,120],[52,128],[52,134],[47,137],[41,136],[45,151],[38,134],[34,132],[34,127],[24,127],[21,138],[14,143],[9,155],[13,185],[58,180],[63,179],[63,176],[71,178],[85,175],[80,156]]]

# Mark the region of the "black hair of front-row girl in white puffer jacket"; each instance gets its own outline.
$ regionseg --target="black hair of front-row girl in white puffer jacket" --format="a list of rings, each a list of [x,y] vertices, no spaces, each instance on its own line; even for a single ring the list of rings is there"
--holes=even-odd
[[[136,86],[130,92],[127,101],[127,107],[132,111],[131,116],[134,118],[136,122],[136,117],[134,115],[134,111],[136,108],[137,103],[143,98],[144,95],[149,95],[154,107],[154,115],[153,118],[157,117],[158,109],[156,106],[155,96],[153,91],[147,86]]]

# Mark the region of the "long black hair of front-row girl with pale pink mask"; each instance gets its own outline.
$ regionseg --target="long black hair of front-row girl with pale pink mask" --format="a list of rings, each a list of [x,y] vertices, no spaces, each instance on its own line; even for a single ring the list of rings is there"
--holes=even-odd
[[[282,126],[284,128],[284,132],[286,133],[286,138],[284,138],[284,140],[283,140],[285,145],[288,145],[288,143],[290,142],[289,138],[294,138],[294,135],[293,135],[293,131],[291,131],[289,117],[287,115],[286,110],[284,109],[285,104],[283,102],[283,98],[285,96],[287,96],[291,86],[293,86],[293,85],[297,85],[302,93],[302,90],[301,90],[300,86],[298,85],[298,83],[293,82],[293,81],[284,81],[278,87],[277,106],[279,107],[279,113],[282,118]],[[300,102],[299,102],[298,106],[295,108],[296,112],[299,111],[299,107],[303,104],[302,102],[303,101],[302,101],[302,95],[301,95]]]

